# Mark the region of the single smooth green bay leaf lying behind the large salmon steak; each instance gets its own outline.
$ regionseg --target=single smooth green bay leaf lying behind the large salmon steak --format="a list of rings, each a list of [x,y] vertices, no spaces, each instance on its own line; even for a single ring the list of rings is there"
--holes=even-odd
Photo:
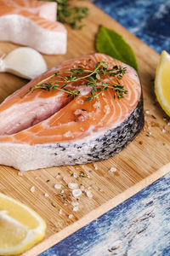
[[[133,49],[116,31],[105,26],[100,26],[95,46],[99,52],[110,55],[138,70]]]

